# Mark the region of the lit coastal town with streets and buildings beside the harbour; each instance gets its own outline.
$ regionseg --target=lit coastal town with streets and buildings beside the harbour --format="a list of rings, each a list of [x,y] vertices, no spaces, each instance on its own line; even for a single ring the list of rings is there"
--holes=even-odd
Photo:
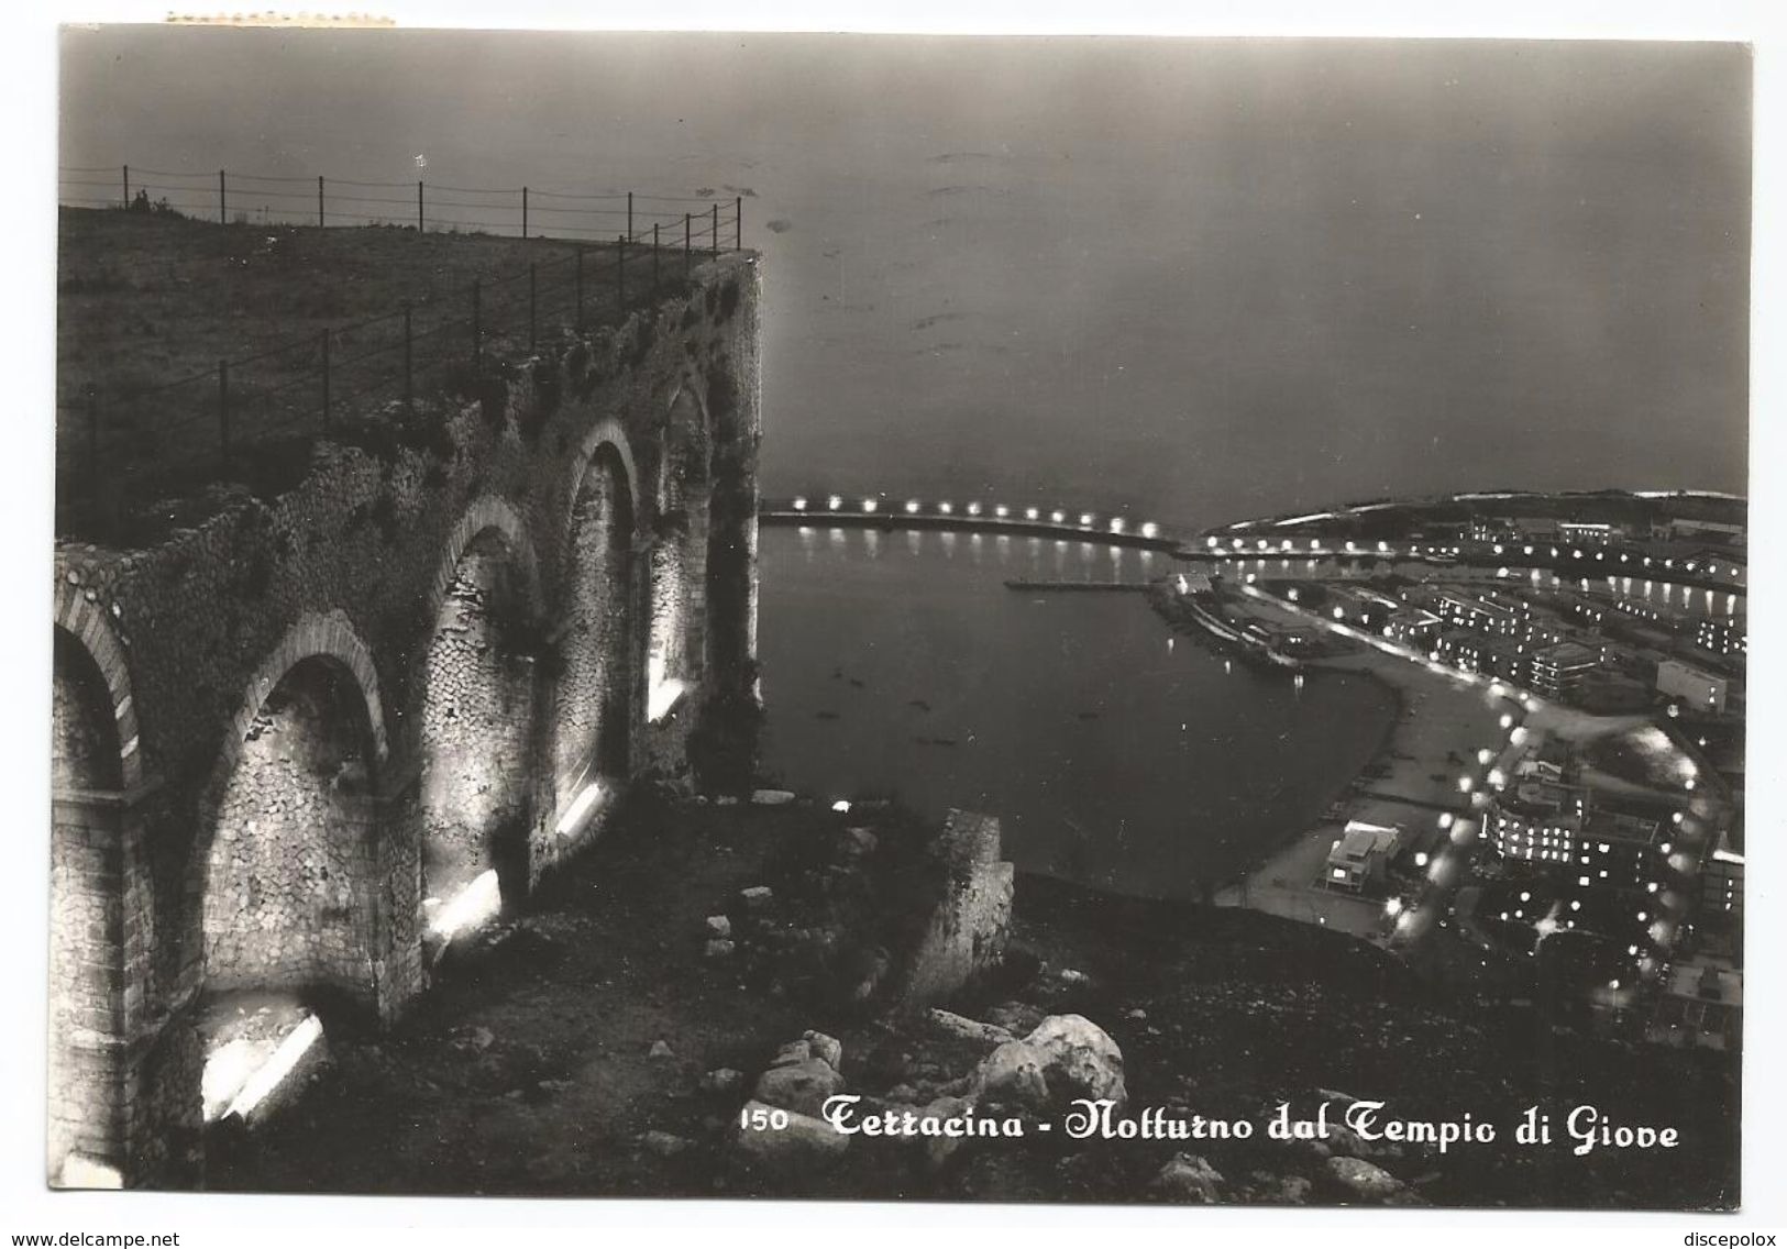
[[[1712,495],[1469,495],[1210,531],[1158,609],[1399,717],[1217,901],[1608,1035],[1735,1051],[1746,531]],[[1199,549],[1201,547],[1201,549]]]

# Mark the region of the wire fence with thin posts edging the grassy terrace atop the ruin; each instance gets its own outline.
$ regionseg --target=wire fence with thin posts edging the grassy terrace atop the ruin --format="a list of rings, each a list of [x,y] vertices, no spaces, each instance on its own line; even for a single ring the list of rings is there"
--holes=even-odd
[[[70,188],[95,184],[95,170],[63,170],[63,204],[200,216],[186,198],[148,198],[170,182],[136,180],[120,170],[113,197],[71,197]],[[180,179],[148,172],[159,179]],[[243,213],[239,184],[295,184],[304,179],[238,179],[214,175],[214,220]],[[315,216],[289,214],[268,223],[336,225],[391,223],[390,216],[341,213],[348,200],[332,188],[384,191],[390,184],[316,179]],[[96,191],[98,188],[93,186]],[[57,411],[59,531],[100,532],[139,504],[170,499],[214,481],[264,477],[268,470],[302,468],[302,447],[379,411],[413,418],[418,400],[477,391],[490,359],[533,352],[541,339],[618,323],[634,307],[683,289],[697,257],[743,245],[743,200],[692,197],[572,195],[516,188],[513,214],[484,211],[470,222],[425,216],[431,191],[461,197],[509,195],[493,188],[416,186],[411,225],[424,231],[484,231],[550,238],[574,247],[554,259],[529,263],[499,279],[470,286],[425,307],[402,304],[388,313],[329,325],[250,356],[155,384],[86,386],[64,395]],[[291,191],[293,195],[297,191]],[[327,197],[327,198],[325,198]],[[372,198],[363,197],[363,198]],[[558,207],[552,200],[575,200]],[[468,204],[470,200],[449,200]],[[591,207],[591,204],[599,204]],[[613,207],[600,207],[600,205]],[[654,204],[656,207],[643,207]],[[675,211],[665,205],[681,205]],[[726,209],[726,213],[722,213]],[[575,214],[554,218],[554,214]],[[241,222],[241,216],[234,218]],[[252,218],[259,225],[263,218]],[[568,225],[565,222],[575,222]],[[597,222],[620,229],[599,231]]]

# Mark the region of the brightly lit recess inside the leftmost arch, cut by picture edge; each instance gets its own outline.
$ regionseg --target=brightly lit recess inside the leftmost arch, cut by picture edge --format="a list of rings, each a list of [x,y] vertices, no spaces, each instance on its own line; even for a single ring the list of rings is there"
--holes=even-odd
[[[123,765],[98,663],[55,629],[50,779],[50,1174],[123,1167],[123,852],[114,795]]]

